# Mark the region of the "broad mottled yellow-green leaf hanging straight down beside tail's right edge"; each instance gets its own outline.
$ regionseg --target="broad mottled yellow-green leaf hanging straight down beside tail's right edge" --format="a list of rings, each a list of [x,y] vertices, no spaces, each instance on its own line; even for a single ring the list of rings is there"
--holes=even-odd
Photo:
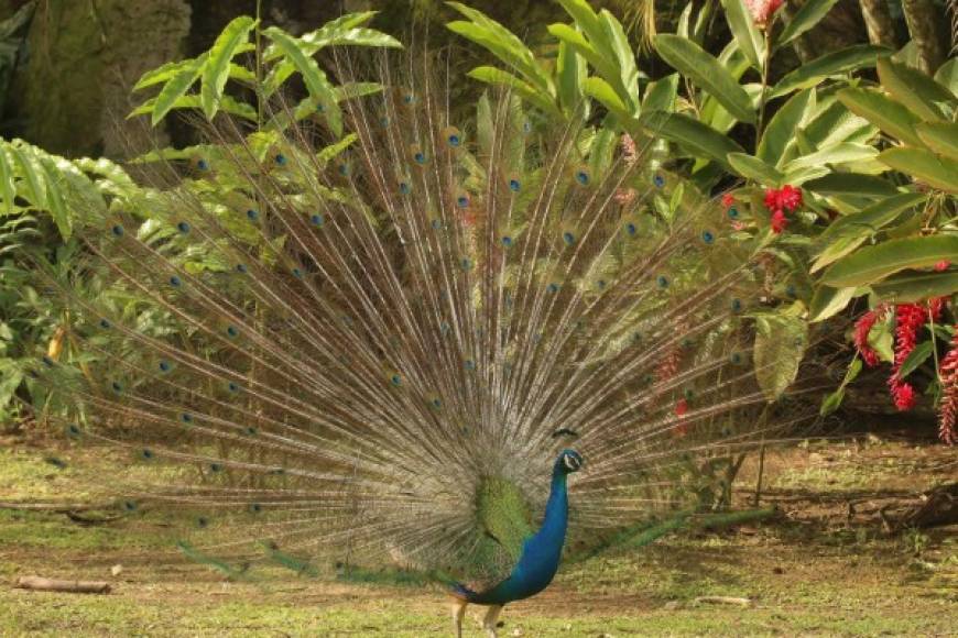
[[[808,346],[808,326],[801,318],[785,314],[759,316],[755,326],[755,378],[765,398],[773,402],[798,375]]]

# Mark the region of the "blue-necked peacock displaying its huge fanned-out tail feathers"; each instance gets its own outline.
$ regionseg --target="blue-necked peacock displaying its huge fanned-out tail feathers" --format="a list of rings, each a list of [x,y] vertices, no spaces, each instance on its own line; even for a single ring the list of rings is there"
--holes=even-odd
[[[70,439],[131,460],[105,492],[230,578],[438,581],[457,609],[726,502],[805,420],[806,389],[756,380],[807,340],[754,355],[763,241],[606,130],[509,94],[457,123],[427,79],[383,84],[335,144],[210,127],[146,174],[149,219],[50,273],[83,354],[35,376]]]

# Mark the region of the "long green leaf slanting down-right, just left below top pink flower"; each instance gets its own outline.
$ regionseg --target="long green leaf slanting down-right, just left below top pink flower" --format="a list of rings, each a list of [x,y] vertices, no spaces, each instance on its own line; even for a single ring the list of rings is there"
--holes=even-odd
[[[662,33],[655,36],[654,44],[666,63],[708,91],[737,120],[755,122],[755,110],[748,94],[718,59],[678,35]]]

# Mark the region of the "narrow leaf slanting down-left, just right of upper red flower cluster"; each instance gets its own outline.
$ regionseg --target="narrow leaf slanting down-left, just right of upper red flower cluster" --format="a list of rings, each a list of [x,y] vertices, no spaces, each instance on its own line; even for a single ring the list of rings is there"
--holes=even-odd
[[[851,253],[882,227],[892,223],[903,212],[912,210],[927,198],[923,193],[901,193],[835,220],[815,240],[813,251],[817,254],[817,260],[810,272],[820,271]]]

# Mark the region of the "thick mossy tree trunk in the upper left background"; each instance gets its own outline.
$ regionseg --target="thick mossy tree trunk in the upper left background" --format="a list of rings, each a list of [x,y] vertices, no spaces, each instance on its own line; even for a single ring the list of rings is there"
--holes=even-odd
[[[124,119],[133,106],[130,87],[182,57],[188,30],[185,0],[39,2],[29,63],[11,96],[22,135],[69,156],[152,148],[143,122]]]

